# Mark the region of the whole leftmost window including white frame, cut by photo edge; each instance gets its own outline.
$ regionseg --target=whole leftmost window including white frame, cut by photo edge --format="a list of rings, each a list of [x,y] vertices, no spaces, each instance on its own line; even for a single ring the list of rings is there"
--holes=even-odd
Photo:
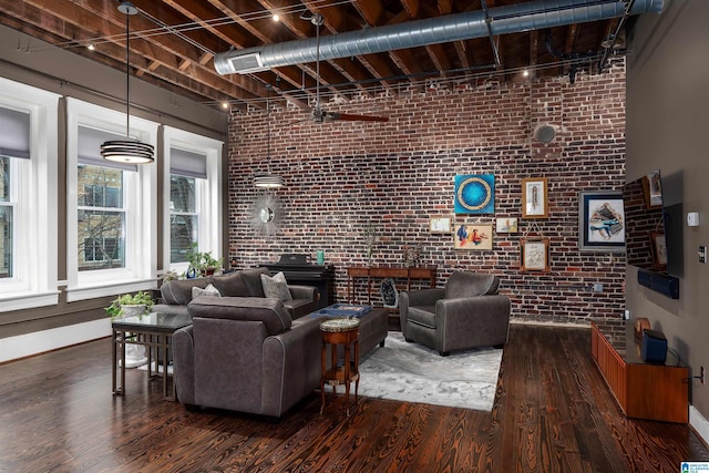
[[[0,311],[59,301],[58,103],[0,79]]]

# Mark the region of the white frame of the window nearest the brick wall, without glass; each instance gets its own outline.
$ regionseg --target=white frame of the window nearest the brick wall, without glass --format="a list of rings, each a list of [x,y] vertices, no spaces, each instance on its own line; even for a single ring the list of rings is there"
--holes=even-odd
[[[222,255],[222,150],[224,142],[172,126],[163,127],[163,266],[164,270],[184,273],[188,263],[169,261],[169,150],[177,147],[207,156],[207,178],[197,179],[196,197],[198,220],[198,250],[210,251],[215,258]]]

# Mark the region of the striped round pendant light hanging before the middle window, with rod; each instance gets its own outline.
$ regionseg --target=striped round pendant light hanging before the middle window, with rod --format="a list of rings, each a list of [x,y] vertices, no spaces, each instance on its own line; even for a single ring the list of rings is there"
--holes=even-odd
[[[147,164],[155,161],[153,145],[131,140],[131,64],[130,18],[137,13],[137,9],[130,1],[119,6],[119,11],[125,14],[125,140],[107,141],[101,145],[101,156],[116,163]]]

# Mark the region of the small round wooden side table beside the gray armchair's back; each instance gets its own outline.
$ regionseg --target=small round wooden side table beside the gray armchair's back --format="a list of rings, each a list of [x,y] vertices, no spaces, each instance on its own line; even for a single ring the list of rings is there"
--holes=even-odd
[[[320,322],[322,333],[321,376],[320,376],[320,413],[325,410],[325,384],[332,387],[332,394],[338,384],[345,384],[346,414],[350,414],[350,383],[354,382],[354,404],[359,390],[359,319],[337,318]],[[338,366],[337,346],[345,346],[345,361]],[[327,360],[327,348],[330,346],[330,364]],[[351,348],[354,347],[354,357]]]

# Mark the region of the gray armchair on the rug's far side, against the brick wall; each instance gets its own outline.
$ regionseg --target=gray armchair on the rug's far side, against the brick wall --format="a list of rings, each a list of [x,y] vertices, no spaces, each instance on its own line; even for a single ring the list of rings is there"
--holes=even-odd
[[[454,271],[444,288],[402,292],[401,332],[448,356],[453,350],[500,347],[507,341],[510,298],[494,275]]]

